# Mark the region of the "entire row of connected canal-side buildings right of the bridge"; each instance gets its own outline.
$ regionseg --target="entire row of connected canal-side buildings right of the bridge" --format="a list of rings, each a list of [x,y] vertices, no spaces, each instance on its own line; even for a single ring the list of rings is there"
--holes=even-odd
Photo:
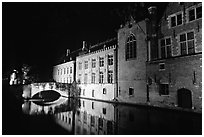
[[[121,26],[117,39],[89,48],[83,42],[76,63],[54,67],[55,81],[75,80],[83,98],[200,112],[202,3],[169,3],[161,18],[156,7],[148,11],[148,19]]]

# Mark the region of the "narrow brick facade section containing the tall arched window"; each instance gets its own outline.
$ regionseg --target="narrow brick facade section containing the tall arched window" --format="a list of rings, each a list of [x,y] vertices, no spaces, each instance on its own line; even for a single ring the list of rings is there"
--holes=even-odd
[[[129,103],[146,102],[146,21],[133,19],[118,30],[118,96]]]

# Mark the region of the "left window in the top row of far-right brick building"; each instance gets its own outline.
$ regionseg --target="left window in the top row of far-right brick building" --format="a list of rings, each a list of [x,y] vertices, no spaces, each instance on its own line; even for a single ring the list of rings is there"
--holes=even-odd
[[[171,27],[181,25],[183,23],[182,13],[171,15]]]

